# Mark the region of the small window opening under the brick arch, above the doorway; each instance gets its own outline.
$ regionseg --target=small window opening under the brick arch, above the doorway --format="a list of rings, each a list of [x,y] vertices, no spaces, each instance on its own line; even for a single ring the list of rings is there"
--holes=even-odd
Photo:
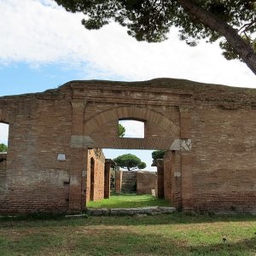
[[[145,123],[134,119],[119,119],[119,137],[144,138]]]

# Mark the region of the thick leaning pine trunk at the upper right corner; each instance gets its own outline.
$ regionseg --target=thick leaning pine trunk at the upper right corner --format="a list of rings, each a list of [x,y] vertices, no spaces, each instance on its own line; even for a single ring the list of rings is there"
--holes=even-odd
[[[247,44],[236,32],[232,26],[228,25],[223,20],[220,20],[216,15],[208,12],[206,9],[201,8],[191,0],[176,0],[183,9],[191,16],[195,16],[198,20],[211,28],[213,31],[218,32],[229,44],[236,50],[237,54],[247,64],[254,74],[256,74],[256,54],[250,44]]]

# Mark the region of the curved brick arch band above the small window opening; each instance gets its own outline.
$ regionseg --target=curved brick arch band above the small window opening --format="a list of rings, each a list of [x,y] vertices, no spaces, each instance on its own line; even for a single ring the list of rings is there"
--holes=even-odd
[[[163,114],[157,113],[152,109],[137,107],[112,108],[98,113],[95,117],[85,122],[84,131],[86,134],[90,134],[98,130],[102,125],[119,119],[137,119],[152,122],[168,131],[169,134],[172,134],[172,137],[179,137],[180,127],[171,119],[166,118]]]

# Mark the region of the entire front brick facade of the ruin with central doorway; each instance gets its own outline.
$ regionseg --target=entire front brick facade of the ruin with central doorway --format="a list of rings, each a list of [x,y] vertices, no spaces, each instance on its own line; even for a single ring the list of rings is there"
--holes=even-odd
[[[72,81],[0,97],[9,124],[0,212],[77,212],[102,198],[106,173],[92,148],[165,149],[159,193],[176,207],[256,212],[255,113],[256,90],[179,79]],[[142,120],[145,138],[119,137],[119,119]]]

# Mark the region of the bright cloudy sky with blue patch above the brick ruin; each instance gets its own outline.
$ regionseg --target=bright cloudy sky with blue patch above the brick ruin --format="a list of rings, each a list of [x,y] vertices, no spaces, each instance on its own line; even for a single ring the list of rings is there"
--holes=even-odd
[[[0,96],[44,91],[73,79],[166,77],[256,87],[247,66],[224,60],[218,44],[190,48],[175,29],[161,44],[138,43],[114,23],[86,31],[83,15],[69,14],[52,0],[1,0],[0,17]],[[5,130],[0,127],[0,143]]]

